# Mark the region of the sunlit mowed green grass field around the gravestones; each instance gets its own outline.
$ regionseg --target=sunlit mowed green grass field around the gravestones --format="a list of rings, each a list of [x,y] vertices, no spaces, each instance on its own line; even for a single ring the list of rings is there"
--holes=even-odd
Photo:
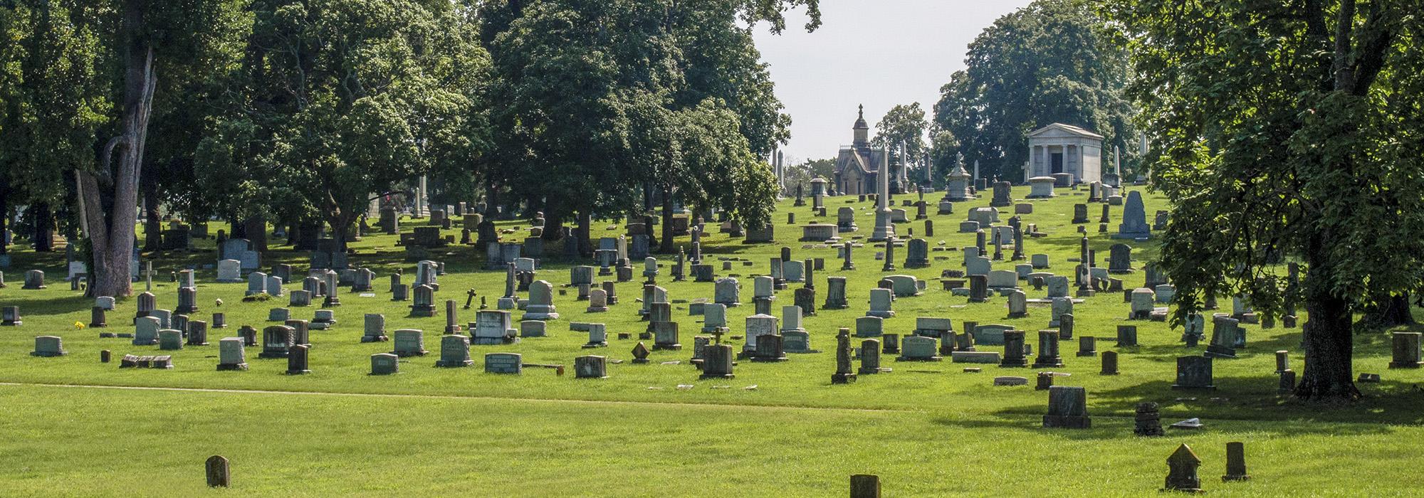
[[[1143,191],[1148,218],[1166,202]],[[1015,188],[1017,196],[1027,188]],[[691,357],[692,336],[701,317],[689,316],[688,302],[711,299],[712,283],[671,282],[671,258],[661,258],[659,285],[674,302],[674,317],[682,329],[681,351],[654,351],[651,364],[611,363],[609,378],[577,380],[572,360],[582,354],[607,354],[631,360],[637,340],[617,340],[618,333],[637,337],[646,326],[638,320],[641,306],[641,262],[635,280],[617,286],[619,304],[607,313],[585,313],[574,289],[555,293],[561,319],[548,323],[550,337],[524,339],[518,344],[476,346],[476,364],[468,369],[436,369],[444,316],[407,317],[410,302],[392,302],[386,276],[404,269],[410,283],[414,262],[403,260],[394,236],[367,236],[353,243],[352,262],[376,270],[373,296],[340,292],[337,326],[312,332],[308,376],[285,376],[285,360],[261,360],[261,347],[248,349],[249,371],[215,371],[221,337],[235,336],[236,327],[266,326],[268,309],[286,299],[244,303],[244,283],[214,283],[216,255],[212,240],[197,240],[194,253],[145,255],[159,269],[154,293],[158,306],[177,304],[177,287],[168,275],[189,265],[198,267],[198,304],[194,319],[208,320],[212,312],[226,314],[228,329],[209,330],[212,346],[187,347],[174,354],[172,370],[120,370],[98,361],[100,350],[118,356],[158,354],[157,346],[131,346],[127,339],[100,339],[88,323],[91,299],[70,292],[63,277],[63,255],[14,252],[7,270],[9,287],[0,289],[0,304],[20,306],[24,324],[0,329],[0,407],[9,417],[0,428],[0,494],[3,495],[114,495],[114,494],[198,494],[206,492],[202,461],[212,454],[232,460],[234,488],[228,492],[271,495],[839,495],[850,474],[879,474],[886,495],[1141,495],[1155,492],[1166,475],[1165,458],[1180,443],[1190,444],[1205,460],[1203,488],[1229,495],[1408,495],[1418,492],[1413,470],[1424,458],[1417,444],[1424,423],[1424,393],[1415,384],[1424,371],[1387,370],[1388,336],[1383,332],[1357,337],[1356,370],[1381,373],[1380,384],[1361,384],[1366,398],[1347,407],[1302,406],[1276,394],[1274,351],[1290,350],[1292,367],[1300,370],[1300,330],[1247,324],[1249,346],[1237,360],[1215,361],[1216,391],[1175,391],[1175,359],[1200,354],[1188,349],[1180,330],[1166,323],[1132,322],[1139,347],[1115,349],[1116,324],[1125,323],[1128,304],[1119,293],[1099,293],[1075,306],[1075,336],[1098,336],[1099,350],[1121,353],[1121,374],[1099,376],[1098,357],[1077,357],[1077,339],[1061,344],[1069,373],[1059,386],[1084,386],[1094,428],[1085,431],[1044,430],[1040,417],[1047,393],[1028,387],[994,387],[994,376],[1032,377],[1031,369],[983,366],[983,373],[961,371],[965,364],[896,363],[883,356],[894,371],[860,376],[849,386],[832,386],[834,333],[853,327],[854,317],[869,306],[869,289],[893,273],[931,279],[917,297],[900,297],[897,316],[886,320],[889,333],[907,334],[916,316],[951,317],[963,322],[1005,323],[1028,332],[1037,349],[1040,329],[1048,329],[1048,307],[1031,306],[1024,319],[1005,319],[1005,299],[967,303],[933,280],[944,269],[960,269],[958,248],[973,245],[973,233],[956,233],[970,208],[987,206],[987,196],[956,205],[953,215],[936,215],[940,194],[926,195],[934,222],[931,267],[904,269],[904,248],[896,248],[894,272],[881,272],[874,260],[877,248],[867,243],[854,252],[857,270],[839,270],[833,248],[805,248],[799,223],[834,223],[836,209],[859,212],[859,232],[869,236],[874,226],[870,202],[829,198],[829,216],[813,216],[807,206],[787,199],[775,215],[772,245],[745,245],[716,233],[709,223],[703,238],[708,259],[719,276],[742,280],[743,306],[729,309],[732,334],[740,336],[750,303],[753,275],[768,272],[770,258],[782,246],[795,259],[826,259],[826,270],[815,272],[817,306],[824,300],[826,276],[849,279],[847,310],[817,310],[805,319],[812,347],[824,353],[792,354],[789,361],[765,364],[740,361],[736,378],[698,380]],[[911,199],[897,196],[896,203]],[[847,203],[849,202],[849,203]],[[1032,201],[1034,212],[1024,223],[1037,223],[1047,238],[1027,239],[1025,253],[1047,253],[1051,272],[1071,276],[1077,258],[1077,226],[1069,223],[1072,205],[1087,202],[1085,191],[1059,189],[1059,198]],[[914,208],[904,206],[910,218]],[[1122,242],[1098,233],[1101,205],[1089,205],[1089,243],[1098,263],[1106,265],[1108,246]],[[1121,222],[1121,206],[1111,208],[1109,233]],[[786,225],[795,212],[797,225]],[[1001,221],[1012,208],[1001,209]],[[403,229],[424,221],[406,219]],[[457,223],[459,225],[459,223]],[[521,231],[525,222],[501,222]],[[218,225],[212,225],[215,233]],[[923,236],[924,222],[900,223],[907,238]],[[459,235],[459,226],[446,233]],[[621,223],[595,222],[594,236],[622,233]],[[506,238],[523,239],[524,233]],[[263,269],[272,263],[293,263],[305,272],[308,256],[275,246],[263,255]],[[679,238],[679,245],[689,240]],[[1135,246],[1134,266],[1155,256],[1155,240],[1128,242]],[[993,250],[993,249],[991,249]],[[555,250],[550,250],[554,253]],[[995,269],[1012,269],[1005,260]],[[454,299],[463,304],[466,289],[494,300],[503,293],[504,272],[484,270],[484,250],[451,246],[436,250],[447,265],[440,277],[437,304]],[[722,270],[721,258],[750,260]],[[548,258],[537,279],[564,289],[570,262]],[[26,269],[48,275],[46,290],[21,290]],[[1121,276],[1128,287],[1139,286],[1143,273]],[[595,277],[602,279],[602,277]],[[792,289],[778,292],[775,314],[792,303]],[[1032,290],[1030,299],[1042,297]],[[135,286],[141,292],[142,283]],[[288,283],[298,289],[299,283]],[[221,299],[224,304],[215,306]],[[480,299],[476,299],[478,304]],[[1230,299],[1222,304],[1229,312]],[[443,306],[437,306],[441,309]],[[134,299],[120,300],[104,332],[132,332]],[[293,307],[295,319],[310,319],[316,307]],[[386,329],[426,332],[426,357],[402,359],[397,376],[367,376],[369,356],[389,351],[390,343],[362,344],[362,314],[386,314]],[[471,322],[474,310],[460,310],[460,323]],[[518,312],[515,312],[515,320]],[[1302,317],[1302,322],[1304,317]],[[609,347],[582,350],[587,336],[568,330],[570,322],[608,324]],[[33,357],[34,336],[64,337],[68,356]],[[729,339],[731,340],[731,339]],[[651,341],[649,341],[651,343]],[[732,340],[733,344],[740,341]],[[651,346],[651,344],[649,344]],[[980,346],[980,350],[998,350]],[[525,363],[570,366],[568,374],[525,369],[523,376],[483,373],[483,354],[521,353]],[[679,361],[678,364],[661,364]],[[66,384],[71,387],[56,387]],[[118,390],[80,386],[162,387],[165,390]],[[679,386],[682,386],[679,388]],[[171,388],[171,390],[169,390]],[[283,391],[283,393],[261,393]],[[360,394],[360,396],[345,396]],[[1168,437],[1139,438],[1132,434],[1132,411],[1139,401],[1162,406],[1162,421],[1171,424],[1200,417],[1203,431],[1169,430]],[[1222,484],[1225,443],[1245,441],[1250,482]],[[221,491],[218,491],[221,492]]]

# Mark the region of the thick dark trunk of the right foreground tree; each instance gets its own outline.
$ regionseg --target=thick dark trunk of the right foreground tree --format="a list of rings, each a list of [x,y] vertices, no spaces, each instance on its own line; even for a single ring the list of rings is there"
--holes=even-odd
[[[1360,398],[1354,387],[1354,333],[1350,326],[1350,302],[1337,296],[1331,286],[1334,266],[1326,260],[1329,233],[1310,243],[1310,269],[1303,282],[1306,323],[1302,326],[1306,346],[1306,369],[1296,396],[1316,401],[1353,401]]]

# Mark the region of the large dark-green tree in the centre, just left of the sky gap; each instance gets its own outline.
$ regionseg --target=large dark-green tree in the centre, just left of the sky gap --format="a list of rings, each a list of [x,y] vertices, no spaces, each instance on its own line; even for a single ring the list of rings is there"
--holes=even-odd
[[[703,172],[692,169],[702,158],[681,155],[679,137],[693,124],[721,132],[723,128],[709,122],[733,117],[743,137],[738,145],[749,152],[770,154],[778,142],[785,142],[790,120],[780,112],[750,27],[739,23],[766,20],[778,30],[785,26],[783,6],[807,6],[815,14],[816,4],[815,0],[481,3],[481,37],[497,73],[490,101],[501,104],[490,110],[494,151],[487,164],[488,191],[498,192],[494,184],[503,184],[517,198],[541,202],[547,239],[558,238],[561,223],[575,213],[580,236],[587,238],[590,212],[605,216],[638,212],[639,201],[651,198],[654,186],[662,189],[669,212],[675,196],[688,205],[705,201],[736,213],[763,209],[760,203],[721,202],[748,201],[748,194],[760,188],[742,179],[770,178],[769,174],[723,168],[719,171],[736,178],[699,181]],[[716,138],[708,144],[733,142]],[[740,162],[719,166],[726,164]],[[671,216],[664,216],[664,222],[661,249],[671,250]]]

